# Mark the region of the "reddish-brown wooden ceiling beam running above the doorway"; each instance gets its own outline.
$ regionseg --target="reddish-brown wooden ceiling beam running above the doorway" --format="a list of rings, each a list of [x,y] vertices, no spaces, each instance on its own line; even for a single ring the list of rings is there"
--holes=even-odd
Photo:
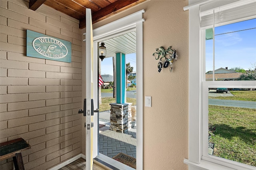
[[[97,12],[92,13],[92,23],[99,22],[101,20],[104,20],[105,18],[108,18],[114,14],[117,14],[118,12],[124,11],[128,8],[131,8],[132,6],[135,6],[137,4],[140,4],[141,2],[144,2],[146,0],[118,0],[105,8],[102,8],[101,10],[98,10]],[[82,18],[79,23],[79,28],[83,29],[85,28],[85,22],[86,19]]]

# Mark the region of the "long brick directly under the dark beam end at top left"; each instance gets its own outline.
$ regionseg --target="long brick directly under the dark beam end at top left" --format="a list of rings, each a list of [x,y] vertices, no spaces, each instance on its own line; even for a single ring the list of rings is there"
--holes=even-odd
[[[28,16],[30,18],[35,18],[36,20],[40,20],[40,21],[43,21],[45,22],[46,20],[46,16],[42,15],[42,14],[39,14],[36,10],[33,11],[33,10],[28,10],[27,8],[28,6],[26,6],[25,8],[21,7],[20,5],[17,5],[17,4],[14,4],[12,2],[9,2],[8,4],[8,9],[9,10],[12,10],[12,11],[15,11],[15,12],[18,12],[20,14],[23,14],[24,16]]]

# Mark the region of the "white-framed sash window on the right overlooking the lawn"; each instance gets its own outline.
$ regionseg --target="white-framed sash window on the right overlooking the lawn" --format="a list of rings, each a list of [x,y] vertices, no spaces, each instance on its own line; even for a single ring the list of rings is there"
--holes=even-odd
[[[227,2],[229,2],[227,4]],[[249,28],[238,28],[238,26],[234,26],[234,23],[239,25],[237,22],[253,22],[255,23],[254,18],[256,18],[256,1],[255,0],[239,0],[239,1],[204,1],[198,4],[190,5],[185,7],[184,10],[189,9],[189,159],[184,160],[185,163],[189,165],[189,168],[193,169],[194,167],[201,168],[214,168],[214,169],[255,169],[254,164],[249,164],[244,160],[232,159],[223,154],[217,155],[214,150],[211,150],[212,143],[218,145],[218,151],[223,150],[220,147],[225,142],[221,141],[220,135],[220,125],[226,125],[226,128],[233,130],[233,132],[237,132],[238,127],[232,127],[234,122],[228,122],[228,119],[223,118],[223,114],[228,114],[223,109],[224,107],[212,107],[212,104],[209,101],[209,90],[214,91],[216,93],[217,88],[218,92],[222,92],[222,94],[230,94],[230,90],[233,89],[255,89],[256,81],[238,81],[239,77],[218,77],[220,74],[229,74],[236,73],[237,71],[230,71],[228,68],[232,67],[244,67],[242,64],[244,61],[250,61],[252,64],[256,61],[256,44],[254,38],[254,44],[252,44],[252,53],[246,56],[241,56],[236,58],[234,53],[236,51],[244,51],[249,46],[244,45],[245,43],[241,43],[240,47],[236,47],[236,50],[233,49],[232,53],[228,51],[231,49],[230,44],[239,42],[240,39],[234,35],[241,30],[246,30]],[[198,17],[200,16],[200,17]],[[254,19],[254,20],[253,20]],[[248,20],[248,21],[247,21]],[[214,21],[214,24],[213,24]],[[233,24],[232,28],[238,28],[238,30],[229,32],[218,33],[221,27],[228,28]],[[245,26],[245,24],[240,24],[241,26]],[[252,24],[250,24],[252,25]],[[206,33],[208,33],[209,28],[212,29],[214,40],[206,41]],[[255,30],[255,26],[254,28]],[[211,29],[210,29],[211,30]],[[250,30],[252,30],[250,28]],[[247,30],[249,31],[249,30]],[[245,32],[245,31],[243,31]],[[215,34],[214,34],[215,33]],[[218,35],[219,37],[217,37]],[[253,37],[254,34],[251,34]],[[224,36],[229,36],[228,38],[224,38]],[[255,36],[254,36],[255,37]],[[208,37],[207,38],[211,39]],[[245,38],[243,36],[243,38]],[[250,37],[249,37],[250,38]],[[222,40],[221,40],[222,39]],[[232,41],[231,41],[232,40]],[[214,42],[214,43],[213,43]],[[210,43],[210,47],[209,44]],[[220,43],[229,43],[226,46],[225,50],[220,49]],[[234,45],[234,44],[233,44]],[[244,46],[243,46],[244,45]],[[224,45],[222,45],[224,46]],[[214,50],[215,49],[215,50]],[[225,53],[228,51],[227,53]],[[248,51],[246,51],[247,53]],[[211,57],[209,57],[209,53],[211,53]],[[206,54],[206,55],[205,55]],[[228,56],[229,55],[229,56]],[[251,58],[250,58],[251,57]],[[250,58],[250,59],[249,59]],[[234,60],[237,59],[237,66],[233,66],[232,63],[235,63]],[[209,64],[210,63],[210,64]],[[210,65],[210,66],[209,66]],[[228,67],[228,68],[226,68]],[[253,67],[253,65],[252,65]],[[210,68],[210,69],[209,69]],[[213,69],[214,68],[214,69]],[[248,70],[249,68],[244,68]],[[207,74],[206,72],[209,71]],[[228,73],[229,72],[229,73]],[[236,75],[237,76],[237,75]],[[222,81],[219,81],[222,80]],[[224,81],[225,80],[225,81]],[[231,80],[231,81],[230,81]],[[227,92],[227,93],[226,93]],[[210,106],[209,106],[210,105]],[[236,107],[238,108],[238,107]],[[242,110],[242,109],[240,109]],[[214,119],[217,119],[213,113],[214,111],[222,111],[222,117],[220,122],[216,123]],[[230,108],[228,108],[230,111]],[[208,114],[209,113],[209,114]],[[238,113],[237,110],[230,112],[230,114]],[[249,113],[249,111],[246,111]],[[252,114],[253,116],[255,115]],[[248,116],[248,115],[247,115]],[[228,116],[227,116],[228,117]],[[253,118],[252,118],[253,119]],[[241,121],[241,119],[240,119]],[[225,122],[225,123],[223,123]],[[245,121],[244,121],[245,122]],[[232,124],[232,125],[230,125]],[[237,123],[238,124],[238,123]],[[246,122],[245,124],[248,124]],[[250,123],[249,123],[250,124]],[[216,129],[218,125],[218,130]],[[251,132],[255,134],[255,124],[250,125],[252,127]],[[242,127],[243,128],[243,127]],[[208,141],[208,134],[210,132],[215,133],[216,137],[210,139]],[[215,131],[215,132],[214,132]],[[218,133],[216,133],[218,131]],[[226,130],[227,131],[227,130]],[[229,132],[232,134],[232,132]],[[229,134],[229,135],[230,135]],[[234,134],[234,133],[233,133]],[[222,134],[222,137],[224,135]],[[233,135],[234,136],[234,135]],[[232,138],[233,136],[225,136],[227,138]],[[237,136],[236,136],[237,137]],[[238,136],[238,138],[242,138]],[[251,140],[251,139],[249,139]],[[253,139],[252,139],[253,140]],[[256,140],[256,139],[254,139]],[[237,141],[236,141],[237,142]],[[230,143],[232,146],[236,146],[234,143]],[[255,142],[252,142],[252,145],[256,145]],[[251,146],[250,146],[251,147]],[[255,146],[251,148],[246,148],[247,152],[250,150],[255,150]],[[210,148],[210,149],[209,149]],[[253,149],[254,148],[254,149]],[[234,148],[233,148],[234,149]],[[213,152],[212,152],[213,151]],[[232,150],[232,152],[240,152],[239,146]],[[244,153],[243,153],[244,154]],[[252,158],[255,162],[255,158]],[[250,166],[252,165],[252,166]]]

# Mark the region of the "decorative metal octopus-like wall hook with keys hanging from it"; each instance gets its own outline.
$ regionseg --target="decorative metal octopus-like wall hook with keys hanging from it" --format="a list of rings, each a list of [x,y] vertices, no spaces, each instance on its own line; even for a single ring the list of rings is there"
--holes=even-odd
[[[173,59],[177,60],[177,52],[176,50],[174,49],[171,49],[172,46],[168,47],[166,50],[164,49],[164,47],[159,47],[159,48],[156,48],[156,52],[153,53],[153,56],[155,57],[155,59],[159,59],[159,62],[158,62],[158,72],[160,73],[160,71],[162,70],[162,67],[164,68],[167,68],[168,66],[170,66],[170,72],[172,72],[172,62],[173,62]],[[168,57],[166,57],[166,55],[168,55]],[[164,62],[164,65],[162,64],[162,58],[165,58],[165,62]]]

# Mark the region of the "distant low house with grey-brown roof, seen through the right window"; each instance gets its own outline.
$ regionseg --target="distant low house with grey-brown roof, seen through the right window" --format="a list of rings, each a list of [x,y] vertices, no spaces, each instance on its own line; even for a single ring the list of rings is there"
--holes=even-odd
[[[205,79],[206,81],[211,81],[212,80],[212,72],[207,73],[205,75]],[[214,70],[214,80],[216,81],[223,81],[223,80],[230,80],[230,81],[234,81],[234,80],[238,80],[240,75],[242,75],[242,73],[238,73],[236,71],[231,71],[228,69],[228,67],[226,67],[226,69],[224,68],[219,68]]]

